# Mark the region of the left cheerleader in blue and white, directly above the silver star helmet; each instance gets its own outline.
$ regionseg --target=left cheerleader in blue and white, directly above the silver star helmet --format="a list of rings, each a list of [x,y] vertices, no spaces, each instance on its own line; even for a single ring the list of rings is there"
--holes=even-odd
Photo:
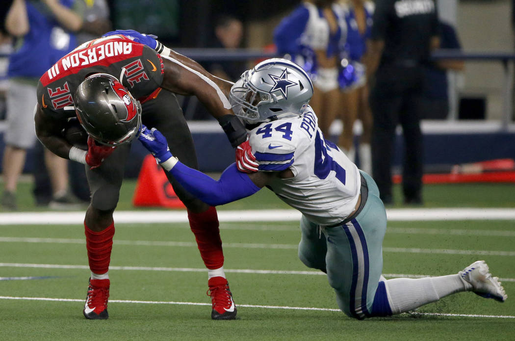
[[[274,30],[278,52],[301,65],[312,78],[315,91],[310,105],[326,137],[341,110],[339,49],[346,27],[335,6],[334,0],[304,1]]]

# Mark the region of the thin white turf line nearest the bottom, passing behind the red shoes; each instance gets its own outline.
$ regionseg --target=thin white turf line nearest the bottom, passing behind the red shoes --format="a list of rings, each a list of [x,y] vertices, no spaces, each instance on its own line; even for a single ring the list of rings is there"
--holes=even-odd
[[[83,302],[83,299],[73,298],[46,298],[46,297],[15,297],[15,296],[0,296],[4,300],[27,300],[27,301],[53,301],[53,302]],[[175,301],[133,301],[133,300],[109,300],[109,303],[136,303],[136,304],[175,304],[175,305],[211,305],[211,303],[198,303],[198,302],[175,302]],[[330,308],[314,308],[314,307],[301,307],[301,306],[280,306],[280,305],[255,305],[255,304],[238,304],[245,308],[264,308],[264,309],[285,309],[285,310],[316,310],[316,311],[329,311],[341,312],[339,309]],[[403,313],[402,315],[413,315]],[[476,314],[443,314],[443,313],[415,313],[414,315],[424,316],[445,316],[445,317],[480,317],[480,318],[515,318],[511,315],[476,315]]]

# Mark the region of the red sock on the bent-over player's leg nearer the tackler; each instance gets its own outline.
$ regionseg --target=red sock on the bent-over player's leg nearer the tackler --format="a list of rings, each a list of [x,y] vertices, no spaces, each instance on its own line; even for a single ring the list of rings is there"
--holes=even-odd
[[[224,266],[224,251],[222,250],[216,209],[210,207],[202,213],[188,211],[188,219],[205,266],[208,269],[218,269]]]

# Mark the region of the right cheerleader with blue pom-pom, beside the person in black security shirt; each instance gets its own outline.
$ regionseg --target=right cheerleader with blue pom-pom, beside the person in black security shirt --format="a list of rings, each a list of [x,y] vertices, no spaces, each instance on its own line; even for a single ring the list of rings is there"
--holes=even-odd
[[[355,161],[354,122],[359,118],[363,131],[359,140],[359,168],[372,174],[372,157],[370,137],[372,131],[372,113],[368,104],[368,86],[363,56],[366,53],[366,42],[370,37],[374,4],[366,0],[340,0],[340,15],[347,24],[347,39],[341,49],[341,69],[338,77],[342,90],[341,120],[344,130],[338,139],[338,146]]]

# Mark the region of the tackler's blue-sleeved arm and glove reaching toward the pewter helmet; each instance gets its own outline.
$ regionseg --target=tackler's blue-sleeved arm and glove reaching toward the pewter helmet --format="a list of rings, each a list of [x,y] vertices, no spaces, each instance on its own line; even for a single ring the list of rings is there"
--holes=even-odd
[[[159,164],[167,172],[170,172],[188,192],[212,206],[248,197],[258,192],[273,176],[263,172],[250,175],[242,173],[233,163],[225,169],[217,181],[202,172],[185,166],[173,157],[165,137],[159,130],[155,128],[148,130],[143,126],[138,139]]]

